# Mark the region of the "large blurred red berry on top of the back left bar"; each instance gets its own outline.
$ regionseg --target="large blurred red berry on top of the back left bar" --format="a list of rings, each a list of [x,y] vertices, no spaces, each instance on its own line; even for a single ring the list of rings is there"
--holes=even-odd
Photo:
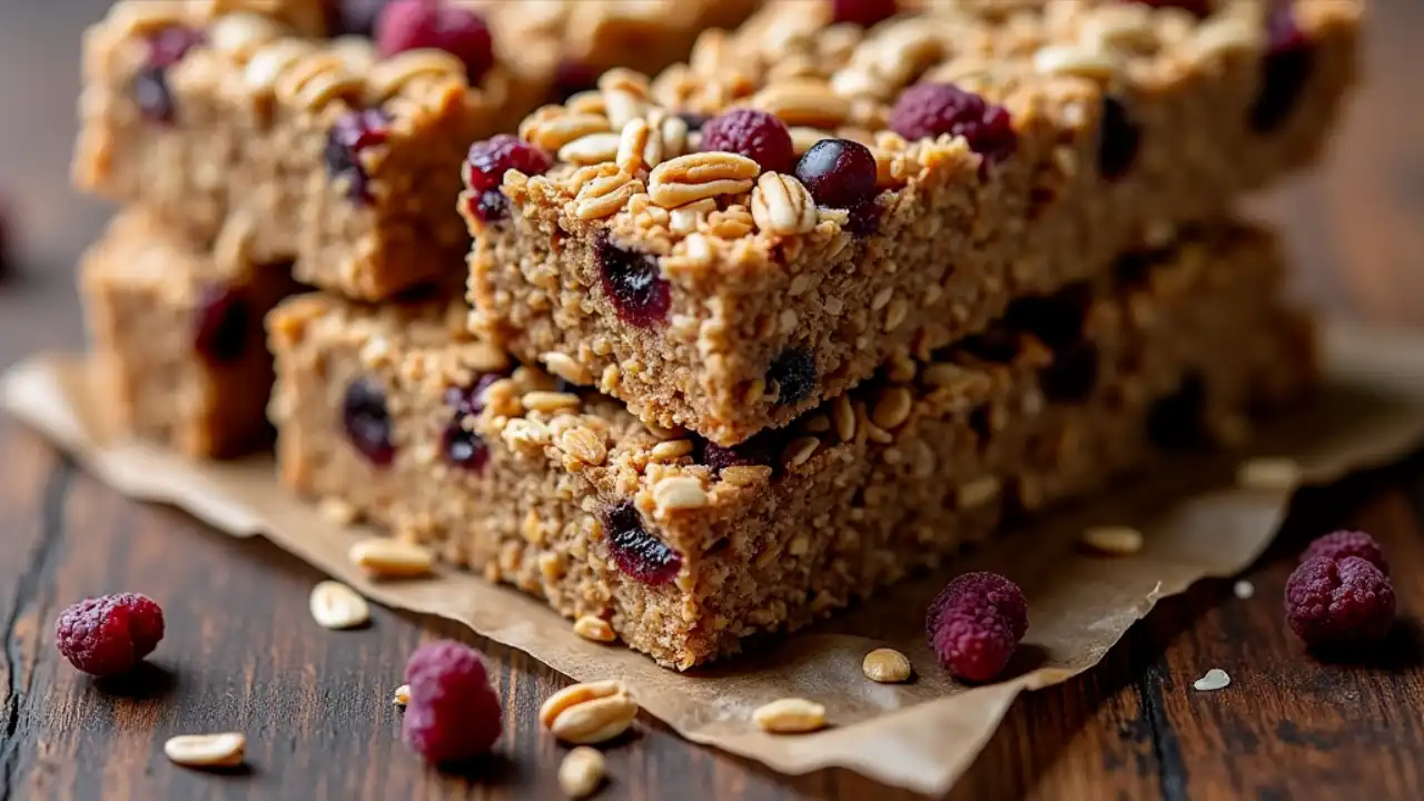
[[[430,47],[464,63],[466,80],[480,83],[494,66],[494,38],[484,17],[443,0],[393,0],[376,20],[382,56]]]

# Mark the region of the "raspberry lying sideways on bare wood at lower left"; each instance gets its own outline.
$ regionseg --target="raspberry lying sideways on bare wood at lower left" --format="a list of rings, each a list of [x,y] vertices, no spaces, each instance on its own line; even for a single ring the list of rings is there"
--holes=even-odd
[[[138,593],[83,600],[60,613],[54,644],[93,676],[132,670],[164,639],[164,610]]]

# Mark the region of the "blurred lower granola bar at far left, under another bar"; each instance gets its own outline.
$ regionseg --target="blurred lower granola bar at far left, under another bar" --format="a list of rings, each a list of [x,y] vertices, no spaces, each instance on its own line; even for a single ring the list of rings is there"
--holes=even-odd
[[[221,245],[228,247],[228,245]],[[216,258],[128,211],[84,255],[80,288],[121,432],[195,458],[271,443],[262,318],[298,289],[288,264]]]

